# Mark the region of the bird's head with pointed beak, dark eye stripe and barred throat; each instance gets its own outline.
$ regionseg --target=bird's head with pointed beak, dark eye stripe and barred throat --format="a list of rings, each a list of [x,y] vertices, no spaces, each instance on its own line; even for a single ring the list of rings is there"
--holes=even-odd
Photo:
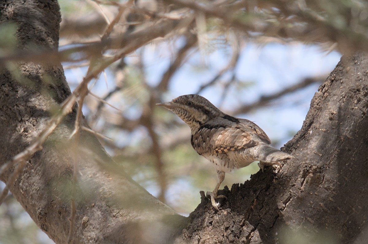
[[[192,131],[197,130],[209,120],[222,115],[222,112],[209,100],[193,94],[179,96],[171,102],[158,103],[156,105],[166,107],[176,113],[180,119],[189,125]]]

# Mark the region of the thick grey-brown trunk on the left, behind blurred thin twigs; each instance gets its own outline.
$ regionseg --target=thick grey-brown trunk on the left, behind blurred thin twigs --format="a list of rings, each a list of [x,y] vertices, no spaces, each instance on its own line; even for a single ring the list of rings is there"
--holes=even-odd
[[[0,22],[17,24],[19,49],[57,49],[60,20],[56,0],[0,1]],[[49,111],[71,94],[61,64],[16,65],[0,70],[0,166],[37,137]],[[56,243],[67,243],[70,230],[72,243],[168,241],[184,218],[125,176],[93,135],[81,131],[79,146],[70,146],[76,109],[7,187]],[[79,173],[75,224],[70,227],[74,155]],[[1,174],[1,180],[7,182],[14,168]]]

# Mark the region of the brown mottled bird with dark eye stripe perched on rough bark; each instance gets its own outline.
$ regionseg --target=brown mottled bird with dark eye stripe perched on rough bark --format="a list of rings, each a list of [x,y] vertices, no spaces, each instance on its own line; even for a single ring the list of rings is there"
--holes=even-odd
[[[240,119],[223,113],[206,98],[183,95],[171,102],[157,103],[177,114],[191,130],[191,145],[194,150],[208,159],[216,169],[217,184],[212,192],[207,192],[212,206],[219,210],[217,191],[225,178],[225,173],[259,161],[258,166],[279,165],[279,161],[294,158],[286,152],[273,148],[266,133],[258,125],[247,119]]]

